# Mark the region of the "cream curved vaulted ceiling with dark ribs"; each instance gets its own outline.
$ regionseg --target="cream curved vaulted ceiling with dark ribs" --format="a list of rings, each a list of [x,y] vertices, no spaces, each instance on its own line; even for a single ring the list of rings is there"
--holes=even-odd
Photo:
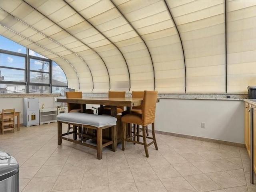
[[[83,92],[246,92],[255,21],[253,0],[0,3],[0,34],[58,63]]]

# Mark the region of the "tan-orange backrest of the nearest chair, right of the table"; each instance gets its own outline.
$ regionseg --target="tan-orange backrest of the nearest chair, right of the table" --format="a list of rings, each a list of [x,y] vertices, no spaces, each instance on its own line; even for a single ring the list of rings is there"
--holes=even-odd
[[[157,91],[144,91],[142,101],[142,125],[146,126],[155,121]]]

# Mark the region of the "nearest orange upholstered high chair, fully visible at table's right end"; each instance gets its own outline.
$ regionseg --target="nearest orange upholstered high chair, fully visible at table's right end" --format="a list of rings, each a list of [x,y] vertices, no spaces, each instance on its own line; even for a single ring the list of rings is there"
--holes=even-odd
[[[156,150],[158,150],[156,144],[156,136],[155,136],[155,112],[156,112],[156,101],[157,101],[157,91],[144,91],[143,102],[142,102],[142,112],[141,113],[131,113],[122,116],[122,132],[123,132],[123,140],[122,140],[122,150],[125,149],[125,142],[133,142],[137,144],[144,145],[146,156],[148,155],[148,146],[154,143]],[[136,124],[142,126],[142,135],[138,132],[136,133],[135,128],[133,135],[129,138],[126,138],[126,124]],[[146,136],[146,126],[152,124],[152,137]],[[139,136],[143,138],[143,142],[136,141],[135,138]],[[153,141],[147,144],[146,139],[152,139]],[[133,140],[132,140],[133,139]]]

